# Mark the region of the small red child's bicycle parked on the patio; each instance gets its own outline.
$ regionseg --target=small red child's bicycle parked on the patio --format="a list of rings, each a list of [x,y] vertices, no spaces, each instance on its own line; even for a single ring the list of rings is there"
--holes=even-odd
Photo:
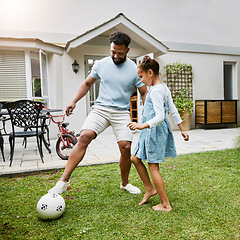
[[[68,122],[64,122],[66,114],[62,115],[48,115],[51,120],[58,125],[60,133],[58,134],[58,140],[56,142],[56,152],[57,155],[63,159],[68,160],[69,155],[75,144],[77,143],[77,137],[80,134],[75,134],[74,131],[69,131],[67,126]],[[60,119],[59,119],[60,118]],[[56,119],[59,119],[58,121]]]

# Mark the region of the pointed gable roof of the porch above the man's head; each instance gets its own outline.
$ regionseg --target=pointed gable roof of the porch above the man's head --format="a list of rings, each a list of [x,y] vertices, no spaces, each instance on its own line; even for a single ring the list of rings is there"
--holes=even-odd
[[[71,49],[88,42],[89,40],[96,38],[99,35],[106,35],[109,30],[121,31],[127,33],[132,40],[146,49],[148,53],[154,53],[156,55],[162,55],[167,53],[168,47],[140,28],[137,24],[133,23],[123,13],[118,14],[116,17],[109,21],[77,36],[66,44],[66,51],[70,52]]]

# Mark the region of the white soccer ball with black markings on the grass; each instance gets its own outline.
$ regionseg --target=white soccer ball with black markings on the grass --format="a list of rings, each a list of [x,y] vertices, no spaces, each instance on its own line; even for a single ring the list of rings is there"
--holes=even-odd
[[[37,212],[43,220],[59,218],[65,209],[63,197],[57,193],[48,193],[40,198],[37,203]]]

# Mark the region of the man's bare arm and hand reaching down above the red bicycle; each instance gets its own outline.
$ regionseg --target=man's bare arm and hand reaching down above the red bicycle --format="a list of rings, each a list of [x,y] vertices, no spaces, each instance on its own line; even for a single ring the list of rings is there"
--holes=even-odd
[[[90,90],[91,86],[96,82],[97,79],[93,78],[92,76],[88,75],[85,81],[79,87],[75,98],[73,99],[72,103],[69,104],[66,108],[66,114],[69,116],[72,114],[73,109],[76,107],[76,103],[82,99],[87,92]]]

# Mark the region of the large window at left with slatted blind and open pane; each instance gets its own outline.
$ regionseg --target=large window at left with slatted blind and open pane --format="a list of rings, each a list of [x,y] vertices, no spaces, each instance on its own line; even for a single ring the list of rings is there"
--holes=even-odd
[[[31,65],[28,66],[26,62],[29,59]],[[31,72],[29,77],[26,71]],[[28,88],[30,78],[31,87]],[[41,101],[48,106],[47,55],[42,50],[30,55],[24,51],[0,50],[0,102],[24,98]]]

